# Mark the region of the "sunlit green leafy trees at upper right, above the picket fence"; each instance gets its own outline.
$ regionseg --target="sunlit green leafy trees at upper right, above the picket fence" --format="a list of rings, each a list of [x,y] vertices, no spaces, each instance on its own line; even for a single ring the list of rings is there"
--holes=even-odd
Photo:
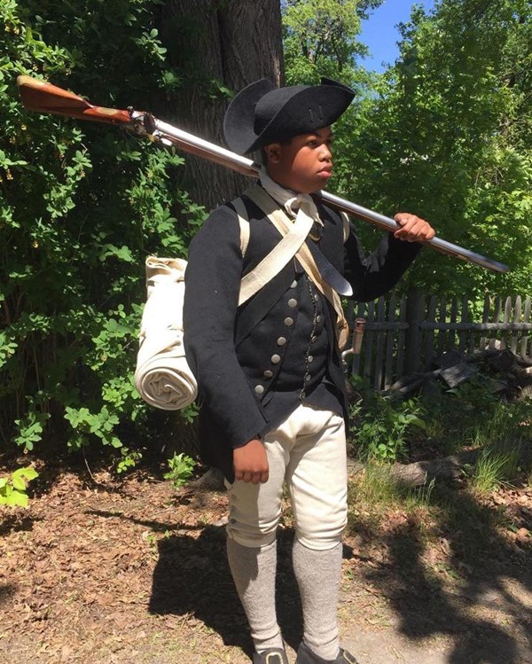
[[[531,11],[526,0],[441,0],[430,15],[416,5],[395,66],[336,126],[332,187],[386,215],[416,212],[512,268],[424,252],[405,289],[528,293]],[[380,235],[361,232],[368,246]]]

